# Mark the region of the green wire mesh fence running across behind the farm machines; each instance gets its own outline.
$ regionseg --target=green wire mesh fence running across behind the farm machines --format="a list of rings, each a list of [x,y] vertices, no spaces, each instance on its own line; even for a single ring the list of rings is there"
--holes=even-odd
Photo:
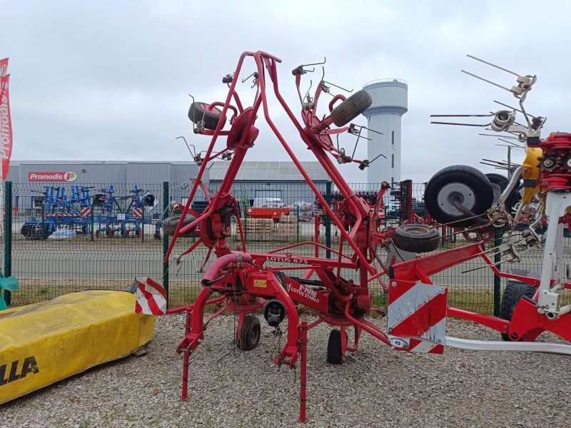
[[[318,183],[318,186],[335,207],[340,200],[337,190],[331,183]],[[350,187],[371,205],[376,202],[378,185],[357,183]],[[423,183],[393,185],[383,198],[384,224],[398,225],[412,215],[425,218],[423,189]],[[207,260],[208,248],[199,245],[193,253],[177,260],[198,237],[179,238],[168,263],[168,278],[163,277],[166,247],[161,233],[161,218],[168,209],[168,201],[186,203],[189,190],[188,187],[170,188],[168,183],[113,187],[108,184],[14,184],[13,218],[7,232],[11,233],[11,274],[19,279],[20,288],[11,294],[11,304],[25,305],[93,288],[126,290],[136,276],[168,281],[171,307],[193,302],[202,272],[216,256],[211,255]],[[215,191],[216,185],[209,190]],[[335,225],[330,225],[323,207],[308,191],[306,183],[274,184],[271,192],[253,192],[246,183],[236,183],[232,193],[239,203],[246,250],[271,252],[290,247],[287,251],[295,255],[325,257],[325,249],[316,251],[315,245],[310,244],[315,241],[339,249],[340,234]],[[206,207],[206,195],[199,191],[192,207],[201,212]],[[242,248],[237,217],[232,218],[231,229],[228,246]],[[452,233],[451,229],[441,228],[444,238],[439,251],[468,243],[465,236]],[[565,246],[569,244],[566,238]],[[489,246],[491,248],[493,243]],[[346,243],[342,250],[350,253]],[[386,250],[380,248],[378,253],[380,259],[385,260]],[[570,257],[564,256],[566,280],[570,278]],[[541,263],[542,253],[533,251],[525,253],[521,263],[503,264],[502,270],[524,269],[538,274]],[[494,304],[497,306],[499,302],[505,281],[500,283],[500,290],[496,282],[494,291],[492,271],[481,267],[485,267],[482,260],[471,260],[440,272],[433,281],[448,287],[450,305],[491,313]],[[358,280],[357,272],[343,271],[342,275]],[[386,276],[381,279],[388,282]],[[374,304],[385,305],[386,295],[380,285],[371,284],[370,288]]]

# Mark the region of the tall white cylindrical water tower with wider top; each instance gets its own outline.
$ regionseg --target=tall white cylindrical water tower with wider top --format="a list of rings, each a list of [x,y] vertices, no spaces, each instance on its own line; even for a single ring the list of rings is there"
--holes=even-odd
[[[383,181],[398,183],[400,181],[400,118],[408,111],[408,85],[398,78],[365,83],[373,103],[365,110],[363,116],[368,119],[367,159],[373,161],[367,169],[367,181],[378,185]],[[377,131],[382,133],[372,132]],[[378,186],[377,186],[378,187]],[[378,190],[378,189],[377,189]]]

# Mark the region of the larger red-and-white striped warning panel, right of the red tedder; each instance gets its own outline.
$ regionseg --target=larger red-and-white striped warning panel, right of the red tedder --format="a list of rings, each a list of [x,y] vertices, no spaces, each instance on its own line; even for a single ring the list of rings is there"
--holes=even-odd
[[[391,280],[388,340],[395,350],[442,354],[448,290],[423,282]]]

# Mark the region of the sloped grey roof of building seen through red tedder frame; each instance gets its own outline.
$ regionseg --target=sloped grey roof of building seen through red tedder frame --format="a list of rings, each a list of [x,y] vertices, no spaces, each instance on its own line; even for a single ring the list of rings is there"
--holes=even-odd
[[[329,175],[319,162],[300,162],[313,181],[329,181]],[[230,162],[213,162],[210,169],[211,181],[222,181]],[[303,175],[291,161],[249,161],[240,165],[236,181],[305,181]]]

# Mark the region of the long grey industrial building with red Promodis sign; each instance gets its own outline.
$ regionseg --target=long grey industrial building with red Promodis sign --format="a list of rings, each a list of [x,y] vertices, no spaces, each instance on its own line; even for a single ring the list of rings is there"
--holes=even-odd
[[[207,165],[203,183],[218,190],[228,170],[229,162]],[[318,162],[302,162],[320,192],[325,192],[327,173]],[[91,186],[91,194],[113,185],[116,197],[129,194],[133,185],[153,193],[162,200],[163,182],[168,182],[171,199],[185,203],[188,183],[200,167],[193,162],[130,162],[130,161],[12,161],[7,181],[14,183],[12,205],[19,210],[34,208],[34,198],[41,198],[46,186],[63,187],[66,195],[72,186]],[[253,205],[255,198],[281,198],[286,205],[297,200],[313,203],[315,195],[292,162],[243,162],[233,193],[241,201]],[[198,192],[196,200],[203,200]]]

